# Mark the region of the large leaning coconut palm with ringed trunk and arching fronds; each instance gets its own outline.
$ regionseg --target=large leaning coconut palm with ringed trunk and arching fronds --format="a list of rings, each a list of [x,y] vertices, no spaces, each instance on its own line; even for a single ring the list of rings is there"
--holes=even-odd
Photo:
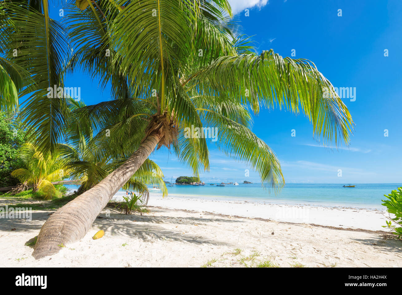
[[[103,131],[109,129],[112,135],[103,140],[110,140],[111,149],[105,151],[113,150],[112,142],[121,141],[131,130],[119,129],[121,125],[135,127],[142,140],[117,169],[49,217],[38,235],[35,258],[52,255],[59,251],[57,245],[82,238],[107,202],[155,148],[172,146],[195,176],[200,170],[208,170],[207,139],[186,136],[186,127],[217,128],[217,147],[257,170],[261,182],[273,190],[283,185],[281,168],[270,147],[250,131],[251,111],[258,113],[261,106],[284,107],[293,113],[301,110],[310,119],[316,137],[336,144],[339,139],[349,143],[353,121],[331,83],[307,60],[282,58],[272,50],[261,55],[253,53],[250,44],[236,36],[226,0],[82,0],[77,5],[78,8],[71,5],[67,14],[75,53],[63,69],[81,67],[99,78],[102,85],[110,83],[115,98],[86,107],[82,120]],[[23,9],[13,6],[10,10],[14,14],[8,15],[18,21],[21,16],[17,12]],[[29,18],[23,20],[28,20],[29,28],[43,30],[48,43],[41,50],[47,48],[49,53],[52,39],[47,36],[53,32],[49,24],[54,30],[62,27],[50,21],[45,10],[47,0],[39,8],[30,8]],[[41,14],[40,20],[33,14]],[[25,40],[26,34],[16,32],[14,38]],[[8,48],[9,45],[10,42]],[[38,43],[24,45],[25,59],[28,53],[35,55]],[[56,57],[58,53],[68,56],[63,46],[55,48]],[[58,65],[60,61],[54,59],[53,53],[44,55],[42,60],[49,61],[48,65]],[[32,69],[24,59],[19,61],[24,69]],[[61,77],[61,69],[48,69],[52,75],[44,76],[46,83]],[[44,89],[43,85],[36,87]],[[33,126],[40,146],[51,151],[69,113],[63,99],[51,99],[51,107],[49,100],[35,107],[32,101],[42,103],[43,95],[36,91],[21,117]],[[132,109],[143,111],[133,113]],[[118,121],[110,122],[111,111],[118,111]],[[45,112],[49,120],[41,121]]]

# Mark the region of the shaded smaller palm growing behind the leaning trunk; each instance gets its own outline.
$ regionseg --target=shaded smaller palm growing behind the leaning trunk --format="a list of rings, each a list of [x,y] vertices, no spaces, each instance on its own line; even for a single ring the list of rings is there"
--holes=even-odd
[[[70,177],[80,180],[81,186],[78,193],[81,194],[98,184],[113,170],[118,168],[123,162],[129,158],[135,147],[139,146],[142,135],[137,126],[124,124],[127,118],[138,113],[138,109],[129,108],[127,101],[125,105],[125,115],[113,112],[103,111],[102,114],[96,115],[98,123],[97,129],[94,130],[92,120],[89,113],[93,113],[94,107],[87,107],[83,101],[75,102],[69,100],[70,117],[68,118],[68,128],[65,140],[68,143],[57,145],[60,156],[66,161],[66,168],[70,172]],[[110,109],[121,109],[121,101],[112,101],[107,103]],[[130,101],[128,101],[130,102]],[[127,114],[127,111],[131,113]],[[93,118],[92,118],[93,119]],[[138,122],[135,122],[138,123]],[[103,124],[103,125],[101,125]],[[105,125],[106,124],[106,125]],[[117,129],[121,135],[114,136],[119,140],[109,140],[105,137],[105,129]],[[97,132],[97,134],[94,134]],[[167,188],[163,181],[163,172],[160,167],[150,159],[147,159],[142,166],[134,173],[133,176],[123,185],[123,189],[134,190],[139,192],[143,197],[143,204],[148,203],[149,190],[146,184],[158,184],[162,190],[162,196],[167,194]]]

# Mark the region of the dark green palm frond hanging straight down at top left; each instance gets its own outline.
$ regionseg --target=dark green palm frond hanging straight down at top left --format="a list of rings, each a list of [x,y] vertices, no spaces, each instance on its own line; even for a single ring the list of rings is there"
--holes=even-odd
[[[34,5],[40,10],[17,4],[7,1],[6,15],[12,25],[5,29],[2,51],[8,61],[29,72],[35,83],[19,93],[28,98],[20,117],[31,128],[35,143],[49,153],[62,137],[68,108],[64,97],[49,98],[48,88],[63,87],[63,63],[71,49],[65,29],[49,18],[47,0]],[[17,50],[17,56],[12,55],[12,49]]]

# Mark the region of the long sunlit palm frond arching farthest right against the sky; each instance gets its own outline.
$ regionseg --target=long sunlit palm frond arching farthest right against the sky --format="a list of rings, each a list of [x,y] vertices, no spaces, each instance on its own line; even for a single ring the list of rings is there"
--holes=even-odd
[[[220,57],[194,73],[188,83],[203,95],[215,95],[220,101],[231,97],[256,113],[261,105],[279,105],[296,114],[301,110],[313,125],[313,135],[349,144],[351,115],[332,84],[307,60],[283,59],[272,50],[260,56]]]

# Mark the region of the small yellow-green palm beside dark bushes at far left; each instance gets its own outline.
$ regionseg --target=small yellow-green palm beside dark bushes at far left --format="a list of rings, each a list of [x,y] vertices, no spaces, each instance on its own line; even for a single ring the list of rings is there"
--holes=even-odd
[[[23,145],[20,156],[27,168],[16,169],[11,172],[11,176],[32,186],[33,192],[41,190],[46,200],[53,198],[56,195],[56,188],[52,182],[68,176],[68,170],[65,169],[66,161],[58,154],[44,155],[31,143]]]

